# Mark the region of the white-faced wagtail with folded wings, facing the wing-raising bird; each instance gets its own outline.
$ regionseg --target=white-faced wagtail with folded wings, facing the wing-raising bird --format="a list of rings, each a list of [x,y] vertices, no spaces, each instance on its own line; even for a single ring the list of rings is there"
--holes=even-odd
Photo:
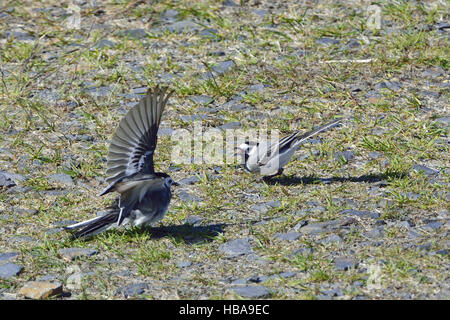
[[[289,162],[294,152],[307,139],[328,130],[338,124],[343,118],[333,120],[326,125],[301,134],[296,131],[276,143],[270,141],[245,142],[238,149],[243,156],[244,168],[252,173],[270,177],[281,174],[283,167]]]

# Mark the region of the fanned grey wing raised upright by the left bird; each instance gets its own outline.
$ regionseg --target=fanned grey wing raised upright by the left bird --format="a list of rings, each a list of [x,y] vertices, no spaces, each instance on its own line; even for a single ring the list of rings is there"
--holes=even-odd
[[[167,87],[157,86],[147,94],[120,121],[109,145],[106,165],[108,187],[101,195],[113,190],[123,178],[141,173],[154,173],[153,154],[164,108],[173,93]],[[166,94],[167,93],[167,94]]]

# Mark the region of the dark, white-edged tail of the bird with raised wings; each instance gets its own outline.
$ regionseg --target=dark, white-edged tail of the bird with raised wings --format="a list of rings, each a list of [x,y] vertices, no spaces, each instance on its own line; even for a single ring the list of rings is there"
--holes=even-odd
[[[72,234],[72,238],[73,239],[85,238],[94,236],[109,229],[110,227],[114,226],[114,224],[117,222],[118,219],[119,219],[119,210],[114,210],[108,212],[103,216],[95,217],[93,219],[89,219],[86,221],[72,224],[70,226],[66,226],[64,227],[64,229],[67,231],[74,231],[79,229],[78,231]]]

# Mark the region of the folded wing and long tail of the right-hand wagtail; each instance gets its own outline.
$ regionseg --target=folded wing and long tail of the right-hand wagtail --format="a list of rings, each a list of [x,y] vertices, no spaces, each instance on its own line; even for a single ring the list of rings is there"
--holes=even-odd
[[[270,159],[272,159],[276,154],[283,153],[286,149],[291,148],[292,146],[298,147],[303,141],[315,136],[316,134],[326,131],[339,122],[341,122],[343,118],[337,118],[323,126],[314,128],[310,132],[300,134],[300,131],[294,132],[286,137],[280,139],[278,143],[270,144],[267,148],[267,152],[261,155],[261,159],[258,161],[259,166],[266,165]]]

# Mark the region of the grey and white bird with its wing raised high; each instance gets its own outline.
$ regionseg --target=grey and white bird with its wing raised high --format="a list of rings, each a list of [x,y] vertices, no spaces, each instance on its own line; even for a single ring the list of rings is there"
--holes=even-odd
[[[106,182],[100,195],[116,191],[118,206],[107,214],[65,227],[74,238],[88,237],[120,225],[145,226],[161,220],[177,185],[163,172],[155,172],[153,154],[161,116],[173,91],[157,86],[128,111],[109,145]]]

